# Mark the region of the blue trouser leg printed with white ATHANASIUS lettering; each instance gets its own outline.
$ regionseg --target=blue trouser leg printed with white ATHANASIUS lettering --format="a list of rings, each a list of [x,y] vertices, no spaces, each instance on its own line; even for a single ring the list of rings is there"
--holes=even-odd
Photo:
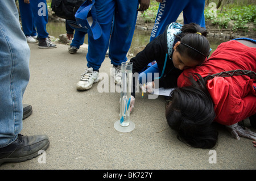
[[[168,0],[159,4],[158,14],[155,18],[155,24],[151,32],[150,41],[154,40],[156,36],[162,34],[168,24],[176,22],[189,0],[175,1]]]

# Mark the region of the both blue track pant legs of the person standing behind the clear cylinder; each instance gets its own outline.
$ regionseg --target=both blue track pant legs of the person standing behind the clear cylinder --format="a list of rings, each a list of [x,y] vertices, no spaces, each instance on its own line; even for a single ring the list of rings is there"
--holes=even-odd
[[[122,62],[127,61],[126,54],[133,39],[139,2],[138,0],[97,0],[94,5],[102,35],[94,40],[88,32],[87,66],[94,70],[100,69],[108,48],[111,64],[121,65]],[[112,33],[111,37],[110,33]]]

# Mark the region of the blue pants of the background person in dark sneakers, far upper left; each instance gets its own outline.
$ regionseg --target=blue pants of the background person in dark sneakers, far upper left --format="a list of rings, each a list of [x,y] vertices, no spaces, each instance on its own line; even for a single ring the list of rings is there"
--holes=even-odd
[[[37,30],[40,39],[48,37],[49,33],[46,31],[46,24],[48,23],[46,0],[32,0],[29,4],[24,3],[24,0],[19,0],[19,11],[22,29],[26,36],[35,36]]]

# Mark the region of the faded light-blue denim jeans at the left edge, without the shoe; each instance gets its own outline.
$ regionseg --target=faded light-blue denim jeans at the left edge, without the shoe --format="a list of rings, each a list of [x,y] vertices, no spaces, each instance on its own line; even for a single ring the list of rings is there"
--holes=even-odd
[[[30,48],[15,0],[0,1],[0,148],[22,130],[22,97],[30,78]]]

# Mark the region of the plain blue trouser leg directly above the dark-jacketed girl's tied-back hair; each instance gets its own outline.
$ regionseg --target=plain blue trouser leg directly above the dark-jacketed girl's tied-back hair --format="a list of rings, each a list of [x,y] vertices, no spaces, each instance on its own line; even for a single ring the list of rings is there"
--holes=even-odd
[[[205,28],[204,0],[191,0],[183,10],[184,24],[196,23]]]

